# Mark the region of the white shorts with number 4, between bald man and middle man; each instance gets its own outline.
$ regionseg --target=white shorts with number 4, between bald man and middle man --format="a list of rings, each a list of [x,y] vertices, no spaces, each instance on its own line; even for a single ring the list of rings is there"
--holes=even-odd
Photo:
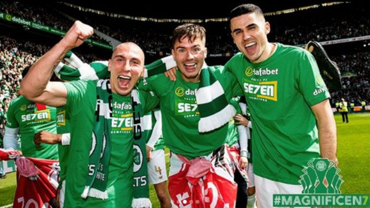
[[[167,180],[164,149],[151,151],[151,158],[148,162],[148,177],[150,184],[157,184]]]

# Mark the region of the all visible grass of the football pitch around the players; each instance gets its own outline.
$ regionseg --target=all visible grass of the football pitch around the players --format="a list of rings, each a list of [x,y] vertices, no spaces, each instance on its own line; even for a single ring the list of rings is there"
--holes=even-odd
[[[335,115],[338,135],[339,173],[344,180],[340,190],[343,194],[370,194],[370,113],[349,114],[349,123],[342,123]],[[169,154],[166,150],[168,171]],[[13,203],[16,188],[15,173],[0,179],[0,207]],[[155,190],[150,185],[153,208],[160,208]],[[11,207],[11,206],[10,206]]]

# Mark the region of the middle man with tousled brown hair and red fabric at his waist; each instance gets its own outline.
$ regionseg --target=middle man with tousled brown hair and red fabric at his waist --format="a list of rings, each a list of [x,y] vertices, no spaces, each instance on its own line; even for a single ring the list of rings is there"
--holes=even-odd
[[[174,208],[235,205],[235,163],[224,144],[227,123],[235,114],[228,101],[242,92],[222,66],[205,64],[205,32],[195,24],[177,27],[172,37],[176,81],[160,74],[139,86],[160,99],[164,145],[172,152],[169,192]],[[204,96],[207,90],[215,96]]]

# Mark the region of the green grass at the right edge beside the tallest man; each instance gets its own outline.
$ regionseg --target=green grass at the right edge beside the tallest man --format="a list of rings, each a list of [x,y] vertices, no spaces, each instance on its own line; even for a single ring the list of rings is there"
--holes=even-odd
[[[348,120],[342,123],[341,116],[335,116],[338,167],[344,179],[340,190],[345,194],[369,194],[370,114],[349,114]]]

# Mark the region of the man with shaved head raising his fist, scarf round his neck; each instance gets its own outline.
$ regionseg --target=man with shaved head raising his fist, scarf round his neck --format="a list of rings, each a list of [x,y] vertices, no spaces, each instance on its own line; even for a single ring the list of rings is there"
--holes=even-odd
[[[133,139],[141,137],[141,115],[158,100],[134,89],[144,73],[144,53],[122,43],[109,60],[110,79],[50,82],[68,51],[81,45],[93,29],[79,21],[32,66],[21,94],[49,106],[66,106],[71,141],[65,184],[65,208],[128,208],[133,197]],[[63,188],[62,188],[63,189]]]

